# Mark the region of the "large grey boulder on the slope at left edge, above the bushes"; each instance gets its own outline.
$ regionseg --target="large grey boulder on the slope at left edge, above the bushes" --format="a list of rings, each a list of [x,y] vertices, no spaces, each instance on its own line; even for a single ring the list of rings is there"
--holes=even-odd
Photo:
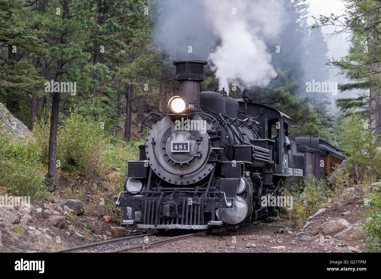
[[[2,103],[0,103],[0,119],[5,120],[4,126],[2,126],[2,124],[0,125],[2,126],[2,130],[12,132],[13,137],[21,139],[33,138],[29,128],[14,117]]]

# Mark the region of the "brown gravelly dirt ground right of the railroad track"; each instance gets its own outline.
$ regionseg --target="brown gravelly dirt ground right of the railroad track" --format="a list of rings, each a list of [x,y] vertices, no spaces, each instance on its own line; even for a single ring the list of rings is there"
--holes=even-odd
[[[366,252],[362,239],[349,241],[335,239],[333,238],[333,235],[324,235],[323,239],[318,236],[318,229],[322,222],[334,220],[335,218],[343,218],[353,224],[359,220],[355,217],[354,213],[359,210],[361,211],[362,209],[365,208],[362,205],[361,199],[349,202],[336,209],[326,209],[324,212],[310,220],[312,223],[306,229],[298,231],[291,230],[293,232],[291,235],[288,233],[278,233],[279,230],[287,228],[287,222],[285,221],[251,223],[242,226],[235,231],[178,239],[173,242],[163,243],[159,246],[136,252],[337,253],[344,252],[344,249],[349,246],[357,248],[359,252]],[[343,212],[346,211],[351,211],[351,214],[342,215]],[[300,232],[306,234],[296,237],[296,234]],[[303,240],[306,236],[315,238],[309,241]],[[324,243],[324,240],[326,240],[326,243]],[[255,247],[250,244],[254,244]]]

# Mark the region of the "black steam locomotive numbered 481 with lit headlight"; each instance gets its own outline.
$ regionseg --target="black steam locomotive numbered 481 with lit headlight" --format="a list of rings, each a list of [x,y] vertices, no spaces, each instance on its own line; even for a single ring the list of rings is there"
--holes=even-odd
[[[147,138],[116,199],[121,224],[203,230],[274,215],[283,188],[306,172],[288,137],[290,118],[251,102],[247,89],[242,99],[201,92],[205,61],[173,64],[179,94],[164,115],[142,121]]]

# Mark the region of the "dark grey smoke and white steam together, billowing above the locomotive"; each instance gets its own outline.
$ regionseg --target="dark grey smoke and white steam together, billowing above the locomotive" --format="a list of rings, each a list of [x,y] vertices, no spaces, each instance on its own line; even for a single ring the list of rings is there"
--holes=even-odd
[[[156,43],[177,59],[212,61],[220,89],[229,92],[232,83],[266,86],[277,76],[265,43],[281,32],[283,1],[160,0],[158,5]]]

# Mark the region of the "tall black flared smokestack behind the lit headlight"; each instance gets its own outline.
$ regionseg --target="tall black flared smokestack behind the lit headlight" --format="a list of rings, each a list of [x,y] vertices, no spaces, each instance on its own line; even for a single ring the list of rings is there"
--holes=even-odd
[[[179,96],[195,104],[196,110],[201,110],[200,81],[204,80],[204,66],[207,64],[199,60],[173,61],[173,65],[176,65],[176,80],[180,82]]]

